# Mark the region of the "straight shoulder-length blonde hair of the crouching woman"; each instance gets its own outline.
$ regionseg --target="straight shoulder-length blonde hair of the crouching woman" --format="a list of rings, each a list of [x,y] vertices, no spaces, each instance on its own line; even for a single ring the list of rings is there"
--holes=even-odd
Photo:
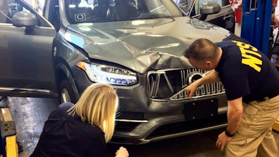
[[[105,141],[109,142],[114,133],[118,101],[118,96],[110,84],[91,84],[85,89],[80,100],[68,110],[68,114],[77,114],[82,121],[98,126],[105,133]]]

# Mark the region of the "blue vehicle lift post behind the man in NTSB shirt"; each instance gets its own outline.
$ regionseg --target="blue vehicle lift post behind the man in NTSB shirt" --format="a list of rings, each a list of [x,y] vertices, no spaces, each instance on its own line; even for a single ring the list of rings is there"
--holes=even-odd
[[[243,0],[241,37],[269,56],[273,0]]]

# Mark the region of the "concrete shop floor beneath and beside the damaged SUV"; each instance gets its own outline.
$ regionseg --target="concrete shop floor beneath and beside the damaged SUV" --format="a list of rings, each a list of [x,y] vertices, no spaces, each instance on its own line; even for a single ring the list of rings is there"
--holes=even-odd
[[[0,105],[3,104],[10,107],[10,113],[17,128],[17,141],[21,142],[23,146],[19,157],[28,157],[36,147],[45,120],[59,103],[56,99],[51,98],[8,97],[0,102]],[[124,145],[124,147],[128,149],[130,157],[221,157],[224,154],[216,149],[215,142],[222,131],[223,129],[211,130],[149,144]],[[279,146],[279,133],[273,131],[273,135]],[[119,144],[108,144],[112,156],[120,146]]]

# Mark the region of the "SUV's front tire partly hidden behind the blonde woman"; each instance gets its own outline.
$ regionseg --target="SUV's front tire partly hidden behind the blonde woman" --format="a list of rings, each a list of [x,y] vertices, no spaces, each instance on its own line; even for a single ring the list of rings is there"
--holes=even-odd
[[[70,85],[70,82],[64,78],[61,81],[60,89],[59,89],[59,102],[60,103],[77,103],[77,100],[75,100],[75,94],[73,91],[73,88]]]

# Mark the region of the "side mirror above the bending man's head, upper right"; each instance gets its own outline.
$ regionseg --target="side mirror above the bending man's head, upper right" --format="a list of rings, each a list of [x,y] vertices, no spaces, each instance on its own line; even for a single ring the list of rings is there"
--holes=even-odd
[[[200,6],[200,13],[202,16],[200,17],[199,20],[205,20],[207,15],[219,13],[220,10],[221,10],[221,7],[218,3],[213,2],[213,1],[205,1]]]

